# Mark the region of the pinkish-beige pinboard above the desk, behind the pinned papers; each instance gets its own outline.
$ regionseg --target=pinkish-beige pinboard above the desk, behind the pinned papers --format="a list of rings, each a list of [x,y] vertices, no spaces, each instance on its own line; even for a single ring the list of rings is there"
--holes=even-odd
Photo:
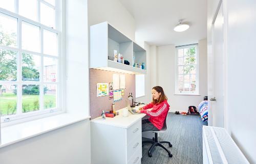
[[[113,74],[124,74],[125,75],[125,89],[122,100],[113,102],[113,99],[109,99],[109,95],[97,97],[97,83],[112,83]],[[129,96],[129,93],[133,93],[135,101],[135,75],[104,71],[98,69],[90,69],[90,115],[91,119],[101,116],[102,110],[110,111],[111,104],[115,103],[115,110],[119,110],[126,106],[125,99]]]

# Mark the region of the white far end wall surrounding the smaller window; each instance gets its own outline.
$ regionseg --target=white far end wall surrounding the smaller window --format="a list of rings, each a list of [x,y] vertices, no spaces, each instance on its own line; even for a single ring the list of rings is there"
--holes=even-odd
[[[154,48],[154,47],[152,47]],[[199,49],[199,94],[174,95],[175,94],[175,45],[157,47],[157,85],[163,87],[170,104],[170,111],[187,111],[188,106],[197,106],[204,96],[207,96],[207,42],[200,40]],[[154,68],[152,68],[154,69]]]

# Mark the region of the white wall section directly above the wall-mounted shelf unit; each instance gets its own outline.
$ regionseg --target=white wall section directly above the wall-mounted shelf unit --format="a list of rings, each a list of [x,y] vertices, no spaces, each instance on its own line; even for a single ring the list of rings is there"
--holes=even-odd
[[[88,0],[88,25],[104,21],[135,40],[135,19],[118,0]]]

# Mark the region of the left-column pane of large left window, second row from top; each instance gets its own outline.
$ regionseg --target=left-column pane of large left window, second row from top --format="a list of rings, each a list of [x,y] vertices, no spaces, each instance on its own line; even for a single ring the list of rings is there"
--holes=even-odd
[[[17,19],[0,14],[0,44],[17,47]]]

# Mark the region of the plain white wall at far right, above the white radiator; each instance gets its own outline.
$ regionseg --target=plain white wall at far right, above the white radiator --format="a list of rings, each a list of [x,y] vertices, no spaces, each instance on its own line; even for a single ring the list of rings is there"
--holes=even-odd
[[[256,163],[256,1],[224,1],[227,22],[228,131],[250,163]],[[226,15],[225,15],[226,14]],[[225,40],[225,39],[224,39]]]

